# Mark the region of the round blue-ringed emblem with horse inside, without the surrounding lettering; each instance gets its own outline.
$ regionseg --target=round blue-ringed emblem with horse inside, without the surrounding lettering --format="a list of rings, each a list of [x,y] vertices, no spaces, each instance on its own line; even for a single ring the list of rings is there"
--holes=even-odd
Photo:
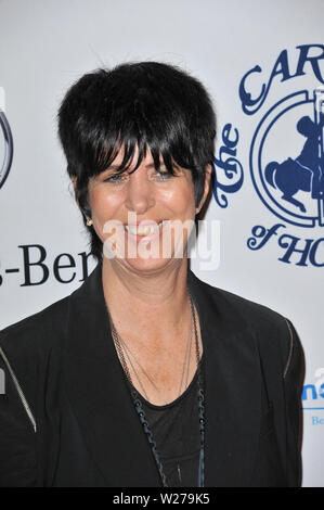
[[[299,227],[324,226],[323,97],[303,90],[278,101],[260,120],[250,149],[261,201]]]

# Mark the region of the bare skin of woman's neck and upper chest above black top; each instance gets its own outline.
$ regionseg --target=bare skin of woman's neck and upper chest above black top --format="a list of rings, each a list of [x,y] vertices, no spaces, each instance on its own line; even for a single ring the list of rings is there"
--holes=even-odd
[[[197,369],[187,260],[176,263],[145,276],[103,263],[104,295],[125,356],[132,361],[127,362],[132,384],[155,405],[173,401]],[[196,310],[193,314],[203,353],[199,320]]]

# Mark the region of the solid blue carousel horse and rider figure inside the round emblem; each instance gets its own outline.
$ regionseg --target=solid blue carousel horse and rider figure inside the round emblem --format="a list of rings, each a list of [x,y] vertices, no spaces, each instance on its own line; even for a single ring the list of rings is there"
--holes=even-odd
[[[283,192],[282,199],[296,205],[302,213],[306,207],[294,199],[297,191],[311,191],[312,199],[324,200],[324,156],[321,139],[324,115],[319,124],[303,116],[297,123],[297,130],[306,137],[298,157],[288,157],[283,163],[271,162],[265,167],[265,179],[273,188]]]

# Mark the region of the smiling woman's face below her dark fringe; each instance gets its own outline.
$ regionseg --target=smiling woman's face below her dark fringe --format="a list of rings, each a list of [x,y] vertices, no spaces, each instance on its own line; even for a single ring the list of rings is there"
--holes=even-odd
[[[176,168],[176,176],[161,165],[157,173],[151,153],[139,168],[124,174],[113,165],[89,181],[89,204],[96,234],[104,243],[104,258],[134,271],[154,271],[186,256],[186,242],[196,213],[208,193],[195,206],[192,174]],[[164,174],[165,173],[165,174]]]

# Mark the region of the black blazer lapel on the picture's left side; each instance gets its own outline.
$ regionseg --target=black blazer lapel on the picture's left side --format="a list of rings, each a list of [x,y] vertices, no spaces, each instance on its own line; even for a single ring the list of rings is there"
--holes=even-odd
[[[108,486],[158,486],[159,474],[108,328],[101,265],[70,297],[67,393]]]

